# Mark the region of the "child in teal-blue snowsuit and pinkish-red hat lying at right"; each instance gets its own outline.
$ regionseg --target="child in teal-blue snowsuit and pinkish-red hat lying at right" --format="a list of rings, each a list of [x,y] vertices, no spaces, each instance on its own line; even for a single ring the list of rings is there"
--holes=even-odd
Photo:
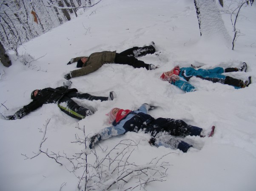
[[[235,89],[245,88],[251,83],[251,76],[243,81],[232,78],[230,76],[222,75],[224,72],[246,72],[247,64],[244,62],[242,66],[238,68],[222,68],[216,67],[213,69],[195,69],[193,67],[183,67],[175,66],[171,71],[164,72],[160,78],[164,81],[168,81],[171,84],[179,87],[180,89],[190,92],[196,91],[196,88],[192,86],[188,81],[191,77],[195,76],[197,78],[202,78],[204,80],[212,81],[213,83],[222,83],[234,86]]]

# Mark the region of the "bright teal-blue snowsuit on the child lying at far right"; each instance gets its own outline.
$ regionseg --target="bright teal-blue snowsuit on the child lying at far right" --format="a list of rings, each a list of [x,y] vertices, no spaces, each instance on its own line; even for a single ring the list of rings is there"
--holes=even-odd
[[[219,82],[219,83],[225,83],[225,75],[222,75],[222,73],[225,72],[225,70],[222,67],[216,67],[213,69],[194,69],[192,67],[184,67],[179,69],[179,77],[180,80],[176,80],[175,82],[171,82],[171,84],[179,87],[180,89],[190,92],[195,91],[196,88],[192,86],[188,81],[191,77],[195,76],[197,78],[202,78],[204,80],[212,81],[213,83]],[[235,89],[240,89],[241,87],[233,86]]]

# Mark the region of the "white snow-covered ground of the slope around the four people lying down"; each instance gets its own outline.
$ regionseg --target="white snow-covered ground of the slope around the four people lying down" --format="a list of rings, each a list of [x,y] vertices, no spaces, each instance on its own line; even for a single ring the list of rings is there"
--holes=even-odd
[[[220,8],[220,6],[218,6]],[[139,58],[160,68],[148,71],[128,65],[105,64],[96,72],[72,78],[72,88],[98,96],[117,93],[114,101],[75,100],[97,112],[81,121],[61,112],[56,104],[46,104],[22,119],[8,121],[0,116],[0,190],[45,191],[77,189],[78,179],[68,172],[68,163],[60,166],[46,155],[33,159],[43,138],[48,119],[47,140],[43,150],[55,153],[80,152],[81,145],[71,143],[75,135],[95,133],[108,126],[105,113],[113,107],[137,109],[147,102],[161,107],[150,111],[157,117],[182,119],[188,124],[207,129],[216,126],[212,138],[186,137],[195,148],[187,153],[165,147],[152,147],[149,136],[127,133],[100,142],[108,149],[122,139],[139,143],[132,153],[132,162],[145,164],[151,159],[173,152],[163,158],[169,162],[166,181],[149,183],[148,191],[253,191],[256,188],[256,3],[241,9],[237,28],[239,36],[235,50],[218,37],[200,38],[196,10],[191,0],[103,0],[85,9],[78,18],[31,40],[19,49],[19,54],[34,57],[26,66],[22,58],[11,55],[12,66],[0,65],[0,113],[13,115],[31,102],[34,89],[62,86],[63,76],[76,69],[66,65],[70,58],[104,50],[121,52],[133,46],[156,43],[159,55]],[[222,14],[228,33],[233,38],[230,16]],[[239,66],[248,64],[247,72],[228,75],[247,79],[252,84],[245,89],[192,78],[198,91],[185,93],[159,79],[162,72],[176,65],[204,64]],[[4,107],[5,106],[5,107]],[[7,110],[7,109],[8,110]],[[77,128],[80,127],[80,128]],[[100,156],[105,155],[96,147]],[[22,155],[23,154],[23,155]],[[90,155],[88,157],[90,161]],[[61,185],[63,187],[61,188]],[[136,185],[133,181],[125,188]],[[117,187],[111,187],[117,190]],[[139,187],[136,188],[139,190]],[[135,190],[136,190],[135,189]]]

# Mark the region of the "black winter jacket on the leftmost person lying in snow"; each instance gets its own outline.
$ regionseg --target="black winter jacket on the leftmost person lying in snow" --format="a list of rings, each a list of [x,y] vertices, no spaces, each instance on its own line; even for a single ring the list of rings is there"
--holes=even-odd
[[[23,116],[30,113],[31,111],[34,111],[35,109],[41,107],[43,104],[58,103],[65,94],[71,91],[77,92],[77,89],[75,88],[68,89],[68,86],[60,86],[56,89],[45,88],[45,89],[39,90],[34,100],[30,102],[28,105],[25,105],[16,113],[14,113],[14,116],[17,119],[20,119]]]

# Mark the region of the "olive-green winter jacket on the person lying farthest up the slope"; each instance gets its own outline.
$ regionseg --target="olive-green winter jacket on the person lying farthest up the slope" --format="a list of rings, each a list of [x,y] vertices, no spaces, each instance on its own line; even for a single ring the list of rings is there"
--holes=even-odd
[[[84,57],[78,57],[78,58],[84,58]],[[77,61],[79,60],[78,58]],[[85,62],[85,64],[82,65],[81,69],[73,70],[70,72],[71,78],[87,75],[91,72],[96,71],[99,69],[102,64],[108,64],[108,63],[114,63],[114,60],[116,58],[116,51],[110,52],[110,51],[103,51],[100,53],[92,53],[88,60]]]

